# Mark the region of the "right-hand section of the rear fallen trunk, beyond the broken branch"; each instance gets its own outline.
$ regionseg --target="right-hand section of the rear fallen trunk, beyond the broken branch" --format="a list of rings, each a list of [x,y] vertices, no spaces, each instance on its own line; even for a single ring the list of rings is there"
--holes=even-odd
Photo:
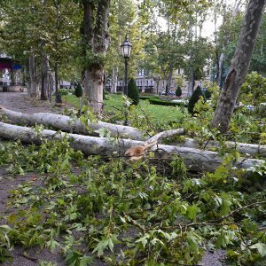
[[[212,148],[219,149],[219,142],[215,140],[207,140],[204,143],[198,143],[193,138],[184,138],[184,141],[180,143],[175,143],[171,145],[178,145],[183,147],[188,147],[192,149],[204,149],[209,150]],[[247,144],[247,143],[239,143],[233,141],[226,141],[224,143],[228,148],[235,149],[239,151],[239,153],[248,153],[250,155],[260,154],[263,157],[266,157],[266,145],[254,145],[254,144]]]

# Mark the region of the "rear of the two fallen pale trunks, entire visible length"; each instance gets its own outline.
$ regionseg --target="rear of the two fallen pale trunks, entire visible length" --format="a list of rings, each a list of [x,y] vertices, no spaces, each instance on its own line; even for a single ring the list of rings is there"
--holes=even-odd
[[[0,114],[5,115],[9,120],[14,121],[15,123],[20,123],[20,124],[27,123],[30,125],[34,125],[35,123],[37,123],[46,126],[51,126],[54,129],[61,129],[66,132],[75,132],[85,135],[90,133],[89,130],[86,128],[86,126],[80,120],[75,120],[66,115],[53,114],[53,113],[33,113],[33,114],[18,113],[5,109],[4,107],[1,106],[0,106]],[[143,132],[132,127],[115,125],[103,121],[98,121],[98,123],[90,123],[89,126],[90,129],[92,129],[94,132],[96,132],[98,129],[105,128],[110,130],[110,132],[114,136],[119,136],[124,138],[130,137],[136,140],[146,140],[146,137],[144,137]],[[179,130],[178,135],[184,135],[184,129],[177,129],[177,130]],[[149,142],[151,143],[151,139],[149,139]],[[210,140],[199,145],[199,143],[192,138],[184,138],[184,141],[172,145],[178,145],[193,149],[203,148],[204,150],[207,150],[212,148],[218,148],[219,142]],[[258,153],[266,157],[266,145],[244,144],[244,143],[231,142],[231,141],[226,141],[225,145],[229,148],[236,149],[237,151],[239,151],[239,153],[248,153],[250,155]]]

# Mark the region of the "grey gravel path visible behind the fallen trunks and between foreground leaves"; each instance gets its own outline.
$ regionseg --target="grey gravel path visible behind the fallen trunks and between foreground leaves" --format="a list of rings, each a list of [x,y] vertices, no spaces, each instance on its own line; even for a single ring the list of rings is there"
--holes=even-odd
[[[17,111],[21,113],[59,113],[59,108],[54,107],[54,104],[48,101],[40,101],[28,98],[27,93],[21,92],[0,92],[0,106]],[[0,168],[0,225],[4,223],[4,215],[8,215],[10,210],[6,207],[6,202],[9,198],[9,191],[18,187],[19,184],[32,181],[34,174],[29,173],[26,176],[11,177],[7,174],[5,168]],[[38,185],[38,182],[35,183]],[[36,266],[40,262],[52,262],[56,265],[66,265],[61,254],[51,252],[44,248],[40,250],[38,247],[25,250],[21,246],[15,246],[12,250],[13,261],[0,263],[3,266]],[[214,253],[207,252],[199,265],[202,266],[222,266],[225,252],[223,250],[216,250]],[[96,262],[95,265],[104,266],[104,262]]]

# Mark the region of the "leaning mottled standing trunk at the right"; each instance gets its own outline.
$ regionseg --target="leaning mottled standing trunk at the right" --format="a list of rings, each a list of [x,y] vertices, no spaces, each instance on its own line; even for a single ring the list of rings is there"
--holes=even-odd
[[[223,132],[229,129],[231,114],[236,104],[240,86],[248,70],[254,43],[262,19],[265,0],[250,0],[244,24],[239,36],[238,47],[231,62],[231,69],[226,77],[223,90],[218,98],[212,127]]]

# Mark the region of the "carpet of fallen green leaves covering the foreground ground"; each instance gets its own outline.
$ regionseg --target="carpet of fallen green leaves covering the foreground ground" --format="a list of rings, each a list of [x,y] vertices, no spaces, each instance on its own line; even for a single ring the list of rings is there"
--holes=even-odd
[[[7,146],[0,150],[7,155],[4,162],[16,158],[27,173],[32,169],[24,160],[27,156],[43,183],[12,191],[9,204],[23,210],[8,217],[15,231],[4,228],[2,239],[0,233],[3,260],[12,243],[60,250],[66,265],[74,266],[90,265],[88,253],[116,263],[120,249],[124,265],[167,263],[166,257],[175,263],[198,263],[205,245],[230,248],[234,262],[265,257],[265,205],[245,207],[260,202],[264,192],[246,193],[241,173],[230,176],[228,166],[239,153],[228,154],[215,173],[192,175],[178,157],[158,165],[150,164],[154,153],[132,165],[122,158],[85,158],[67,139],[40,146],[12,144],[9,155]],[[263,168],[254,171],[264,173]]]

